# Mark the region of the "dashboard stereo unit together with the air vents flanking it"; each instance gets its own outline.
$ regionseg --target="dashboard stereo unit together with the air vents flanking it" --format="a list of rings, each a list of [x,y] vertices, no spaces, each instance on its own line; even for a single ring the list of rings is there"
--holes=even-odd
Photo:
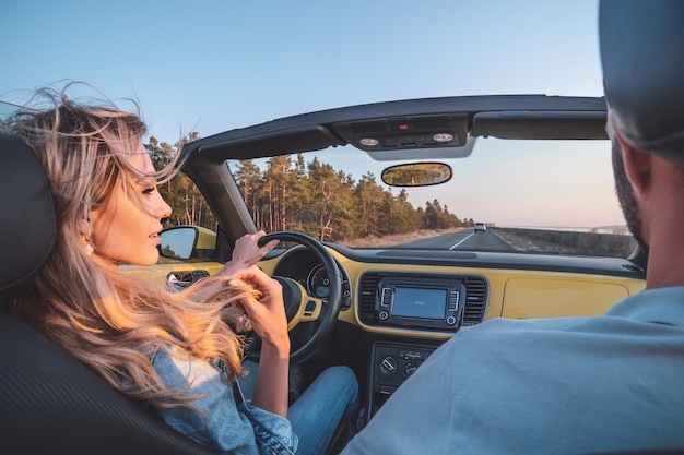
[[[359,292],[359,316],[367,325],[448,333],[482,322],[487,286],[473,276],[368,273]]]

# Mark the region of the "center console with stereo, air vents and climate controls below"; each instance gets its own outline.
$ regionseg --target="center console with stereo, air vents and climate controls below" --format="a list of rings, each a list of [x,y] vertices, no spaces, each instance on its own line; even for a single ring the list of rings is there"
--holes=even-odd
[[[483,321],[487,289],[484,277],[471,275],[370,272],[362,276],[359,320],[388,334],[370,348],[367,421],[448,335]],[[447,336],[433,338],[426,333]]]

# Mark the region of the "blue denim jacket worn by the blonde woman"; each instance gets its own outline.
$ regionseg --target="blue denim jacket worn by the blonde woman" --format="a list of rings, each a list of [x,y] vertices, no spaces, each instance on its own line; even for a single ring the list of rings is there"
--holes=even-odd
[[[205,418],[187,407],[154,408],[164,421],[178,432],[214,451],[245,455],[292,455],[297,436],[290,421],[252,406],[243,396],[239,385],[231,382],[222,363],[191,358],[179,350],[169,355],[157,349],[152,364],[170,390],[184,396],[197,395],[188,402]]]

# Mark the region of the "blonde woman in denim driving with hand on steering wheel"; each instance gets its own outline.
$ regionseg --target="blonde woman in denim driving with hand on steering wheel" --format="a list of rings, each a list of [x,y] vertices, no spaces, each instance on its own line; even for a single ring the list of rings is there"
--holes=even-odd
[[[10,310],[213,450],[325,452],[343,416],[355,412],[357,383],[347,368],[328,369],[288,409],[282,289],[253,265],[274,244],[257,246],[263,232],[240,239],[220,274],[179,292],[120,274],[122,263],[156,263],[170,215],[156,185],[176,163],[154,169],[138,115],[110,101],[79,104],[64,91],[42,89],[47,109],[3,125],[36,153],[58,217],[50,258],[12,292]],[[231,328],[245,314],[262,339],[251,399],[237,385],[244,339]]]

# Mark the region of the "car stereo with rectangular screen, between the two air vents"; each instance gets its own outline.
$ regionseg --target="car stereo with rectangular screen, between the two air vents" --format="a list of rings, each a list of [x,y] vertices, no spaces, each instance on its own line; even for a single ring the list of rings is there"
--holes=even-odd
[[[455,331],[461,322],[465,286],[460,279],[431,275],[384,276],[375,309],[381,325]]]

